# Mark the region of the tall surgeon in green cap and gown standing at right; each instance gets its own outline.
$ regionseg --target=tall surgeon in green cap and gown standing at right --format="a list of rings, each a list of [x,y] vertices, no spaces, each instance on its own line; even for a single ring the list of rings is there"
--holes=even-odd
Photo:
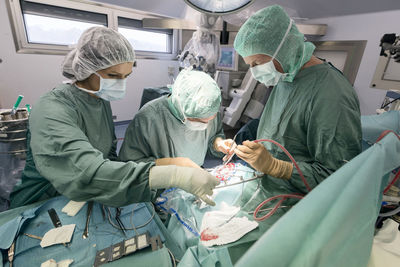
[[[240,28],[236,51],[257,81],[273,86],[257,139],[281,143],[315,187],[361,152],[357,95],[340,71],[313,55],[293,20],[278,5],[252,15]],[[287,179],[307,192],[298,171],[275,145],[245,141],[236,154],[266,179]],[[272,177],[272,178],[270,178]]]

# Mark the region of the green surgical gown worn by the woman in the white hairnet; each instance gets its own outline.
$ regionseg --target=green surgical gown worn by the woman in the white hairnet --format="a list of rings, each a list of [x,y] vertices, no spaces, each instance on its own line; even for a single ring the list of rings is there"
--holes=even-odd
[[[70,84],[43,95],[29,118],[22,182],[11,207],[57,195],[110,206],[149,201],[154,163],[118,162],[110,103]]]

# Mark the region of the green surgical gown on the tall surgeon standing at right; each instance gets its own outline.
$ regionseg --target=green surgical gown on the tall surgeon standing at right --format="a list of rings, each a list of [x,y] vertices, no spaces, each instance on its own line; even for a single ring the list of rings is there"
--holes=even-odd
[[[282,144],[314,188],[361,152],[360,117],[351,84],[337,69],[323,63],[301,70],[293,82],[275,86],[261,116],[257,139]],[[264,145],[274,157],[290,161],[277,146]],[[293,191],[308,192],[296,168],[289,183]]]

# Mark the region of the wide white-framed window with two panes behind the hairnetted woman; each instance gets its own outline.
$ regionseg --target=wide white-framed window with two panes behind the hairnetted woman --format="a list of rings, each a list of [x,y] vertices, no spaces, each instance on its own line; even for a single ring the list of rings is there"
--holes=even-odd
[[[173,59],[177,31],[143,27],[153,15],[81,0],[7,0],[18,53],[66,54],[82,32],[93,26],[118,30],[139,58]],[[88,11],[89,10],[89,11]]]

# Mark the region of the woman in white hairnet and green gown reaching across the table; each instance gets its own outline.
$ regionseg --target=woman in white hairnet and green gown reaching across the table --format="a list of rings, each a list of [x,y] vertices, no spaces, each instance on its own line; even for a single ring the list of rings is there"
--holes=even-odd
[[[71,80],[44,94],[29,118],[22,183],[11,207],[64,195],[109,206],[150,201],[179,187],[208,204],[218,179],[199,168],[117,161],[110,102],[124,97],[134,51],[120,33],[93,27],[63,62]]]

